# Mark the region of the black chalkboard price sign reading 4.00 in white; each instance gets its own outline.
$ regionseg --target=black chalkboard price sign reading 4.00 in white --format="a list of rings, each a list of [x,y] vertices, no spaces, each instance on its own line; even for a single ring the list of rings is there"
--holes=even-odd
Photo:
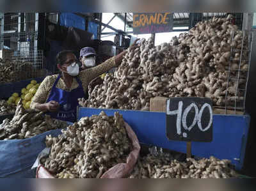
[[[166,135],[173,141],[212,141],[212,101],[170,98],[166,101]]]

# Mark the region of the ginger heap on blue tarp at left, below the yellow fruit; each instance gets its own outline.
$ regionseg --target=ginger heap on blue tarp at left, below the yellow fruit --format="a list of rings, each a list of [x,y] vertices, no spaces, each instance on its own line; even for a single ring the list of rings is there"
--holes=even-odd
[[[19,101],[12,119],[4,119],[0,125],[0,140],[27,139],[49,130],[66,128],[67,123],[44,116],[43,112],[25,110]]]

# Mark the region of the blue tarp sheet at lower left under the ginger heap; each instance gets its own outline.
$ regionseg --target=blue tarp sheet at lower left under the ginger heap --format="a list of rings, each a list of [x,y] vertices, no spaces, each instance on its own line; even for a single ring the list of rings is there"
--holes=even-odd
[[[22,140],[0,141],[0,178],[35,178],[31,170],[38,154],[45,148],[45,137],[61,134],[61,129]]]

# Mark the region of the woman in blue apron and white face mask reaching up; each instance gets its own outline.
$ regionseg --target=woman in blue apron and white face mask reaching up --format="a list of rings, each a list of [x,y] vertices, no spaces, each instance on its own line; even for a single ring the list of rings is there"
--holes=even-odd
[[[135,43],[132,45],[135,47]],[[76,121],[77,98],[86,98],[85,92],[91,80],[111,68],[118,67],[126,51],[111,57],[104,63],[79,72],[76,56],[65,50],[56,56],[59,75],[45,77],[31,101],[31,109],[47,112],[52,118]]]

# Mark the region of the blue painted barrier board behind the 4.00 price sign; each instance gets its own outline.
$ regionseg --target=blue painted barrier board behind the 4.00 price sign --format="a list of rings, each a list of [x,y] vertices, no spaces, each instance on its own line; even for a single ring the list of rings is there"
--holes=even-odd
[[[124,111],[115,109],[92,109],[79,107],[77,118],[106,112],[109,116],[116,111],[123,115],[136,133],[139,141],[150,146],[186,153],[186,142],[169,141],[166,137],[166,114],[164,112]],[[241,170],[250,126],[250,116],[213,116],[212,142],[192,142],[192,155],[217,157],[231,160]]]

